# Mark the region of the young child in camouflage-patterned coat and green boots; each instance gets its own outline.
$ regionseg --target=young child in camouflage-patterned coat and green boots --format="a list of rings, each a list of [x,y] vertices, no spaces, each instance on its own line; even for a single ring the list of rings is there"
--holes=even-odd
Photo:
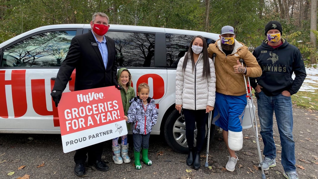
[[[124,116],[127,123],[133,123],[133,141],[136,169],[141,169],[140,151],[142,161],[146,165],[151,165],[148,159],[149,137],[152,126],[157,122],[158,110],[155,100],[149,97],[149,86],[141,83],[138,86],[137,97],[131,100],[128,115]]]

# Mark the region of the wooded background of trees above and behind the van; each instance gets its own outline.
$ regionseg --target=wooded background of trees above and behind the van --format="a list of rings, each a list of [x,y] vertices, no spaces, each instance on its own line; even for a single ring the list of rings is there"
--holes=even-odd
[[[0,43],[44,25],[88,24],[94,12],[105,12],[110,24],[213,33],[231,25],[250,51],[277,20],[306,63],[318,59],[317,0],[0,0]]]

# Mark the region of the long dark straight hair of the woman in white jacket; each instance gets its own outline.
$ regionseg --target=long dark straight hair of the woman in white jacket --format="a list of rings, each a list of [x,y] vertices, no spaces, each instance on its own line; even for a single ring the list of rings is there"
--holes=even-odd
[[[192,43],[193,41],[196,39],[196,38],[201,38],[202,41],[203,41],[203,49],[202,49],[202,59],[203,59],[203,74],[202,76],[204,76],[205,79],[208,79],[211,77],[210,75],[210,62],[209,62],[209,54],[208,54],[208,46],[206,44],[206,41],[205,39],[201,36],[201,35],[197,35],[195,37],[193,37],[193,39],[191,40],[191,43],[190,43],[190,47],[189,47],[189,50],[188,52],[186,53],[185,57],[184,57],[184,60],[183,60],[183,64],[182,64],[182,70],[183,72],[185,71],[185,68],[187,67],[187,64],[188,64],[188,60],[189,60],[189,57],[192,61],[192,71],[194,70],[194,59],[193,59],[193,50],[192,50]],[[198,59],[199,60],[199,59]]]

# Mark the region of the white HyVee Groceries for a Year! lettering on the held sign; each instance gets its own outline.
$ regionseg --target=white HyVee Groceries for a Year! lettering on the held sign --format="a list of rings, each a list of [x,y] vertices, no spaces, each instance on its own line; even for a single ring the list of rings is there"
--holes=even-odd
[[[93,99],[102,99],[104,98],[103,93],[88,93],[88,95],[77,95],[77,100],[79,103],[87,102],[87,104]],[[81,106],[79,108],[66,109],[64,111],[64,115],[66,118],[66,129],[70,130],[72,127],[74,130],[90,125],[94,125],[94,123],[100,124],[108,122],[109,120],[118,119],[119,110],[118,102],[108,101],[105,103],[98,104],[89,104],[86,106]],[[86,117],[86,119],[81,118]],[[92,119],[93,118],[93,119]]]

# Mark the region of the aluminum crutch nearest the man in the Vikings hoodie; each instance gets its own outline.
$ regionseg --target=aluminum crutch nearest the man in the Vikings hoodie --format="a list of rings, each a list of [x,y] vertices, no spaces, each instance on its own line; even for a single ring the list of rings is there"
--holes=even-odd
[[[241,62],[242,66],[243,66],[243,63],[244,63],[244,60],[243,59],[239,59],[239,62]],[[247,83],[246,83],[246,78],[245,76],[243,75],[243,78],[244,78],[244,82],[245,82],[245,90],[246,90],[246,98],[247,98],[247,102],[248,102],[248,107],[250,108],[250,115],[251,115],[251,120],[252,120],[252,128],[253,128],[253,131],[254,131],[254,134],[255,134],[255,141],[256,141],[256,145],[257,145],[257,152],[258,152],[258,155],[259,155],[259,164],[260,164],[260,168],[261,168],[261,171],[262,171],[262,179],[265,179],[265,174],[264,174],[264,168],[263,168],[263,160],[262,160],[262,154],[260,153],[260,147],[259,147],[259,139],[258,139],[258,131],[257,131],[257,122],[256,122],[256,115],[255,115],[255,108],[254,108],[254,104],[253,104],[253,94],[252,94],[252,88],[251,88],[251,83],[250,83],[250,78],[247,76],[247,81],[248,81],[248,84],[249,84],[249,90],[250,90],[250,93],[247,89]],[[250,100],[251,99],[251,100]],[[252,106],[252,110],[251,110],[251,106]],[[253,120],[254,119],[254,120]],[[255,128],[253,126],[253,124],[255,123]]]

